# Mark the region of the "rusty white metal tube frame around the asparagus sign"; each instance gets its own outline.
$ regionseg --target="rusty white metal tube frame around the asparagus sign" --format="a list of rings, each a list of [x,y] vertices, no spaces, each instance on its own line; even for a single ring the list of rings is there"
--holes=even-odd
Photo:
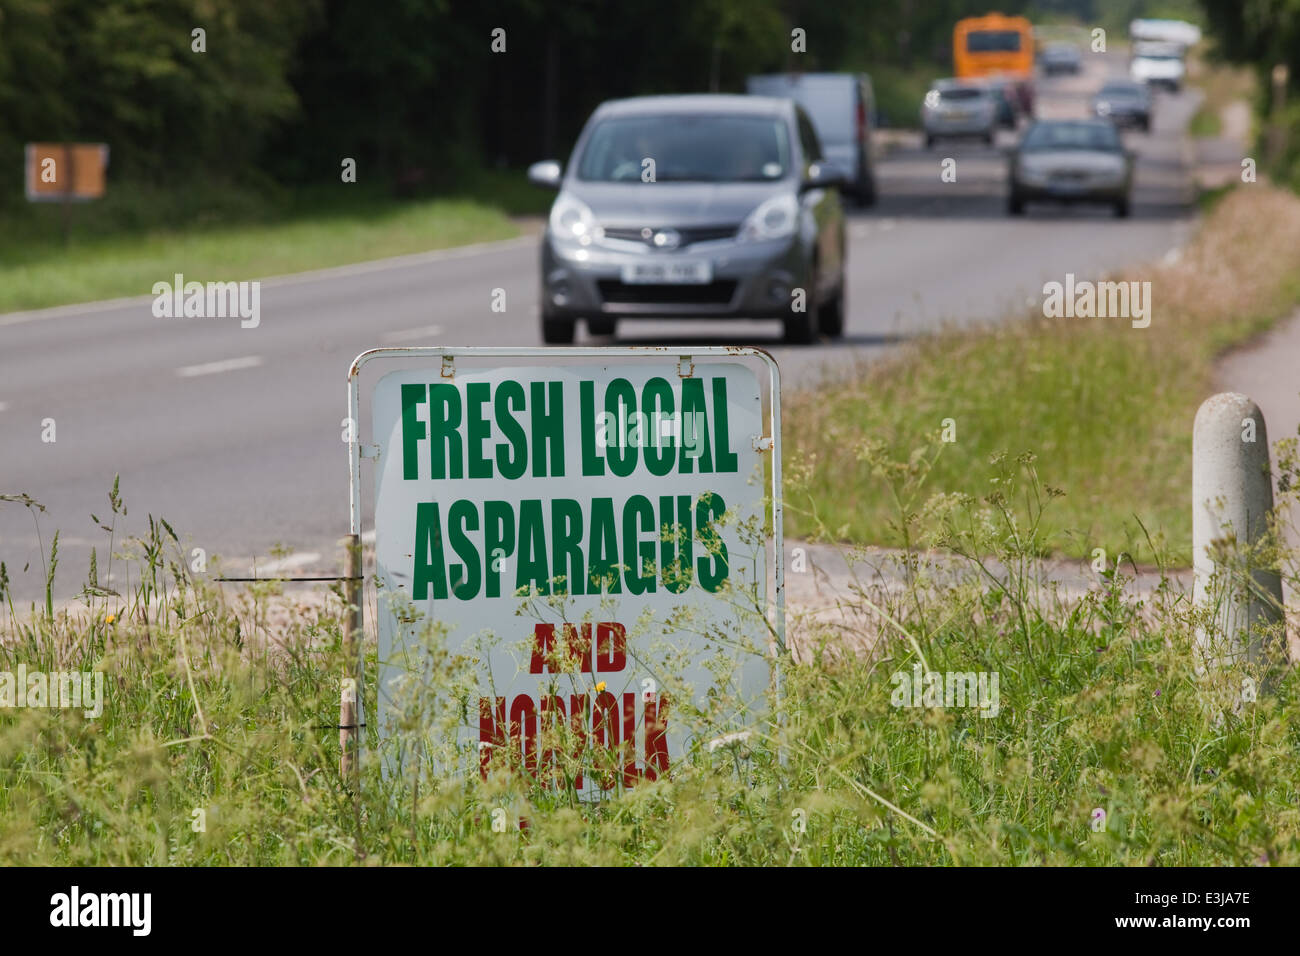
[[[348,470],[347,470],[347,488],[348,488],[348,533],[351,541],[359,548],[361,536],[361,459],[373,458],[377,453],[377,446],[367,446],[361,442],[360,428],[360,376],[361,368],[370,362],[377,359],[420,359],[420,358],[437,358],[441,359],[442,371],[445,377],[452,377],[455,369],[456,358],[469,358],[469,359],[486,359],[486,358],[503,358],[503,359],[541,359],[545,364],[546,359],[564,359],[564,358],[589,358],[589,359],[611,359],[611,358],[634,358],[634,359],[653,359],[653,358],[668,358],[676,356],[679,375],[681,377],[689,377],[694,373],[696,359],[750,359],[758,360],[768,371],[768,423],[771,427],[771,434],[763,436],[757,450],[771,451],[771,493],[772,493],[772,572],[770,575],[770,581],[772,584],[771,598],[774,601],[776,620],[772,622],[774,631],[776,632],[779,641],[779,650],[784,650],[785,643],[785,538],[783,535],[783,506],[781,506],[781,372],[776,364],[776,359],[772,355],[755,346],[533,346],[533,347],[498,347],[498,346],[398,346],[390,349],[369,349],[360,355],[358,355],[347,373],[347,423],[348,428],[348,442],[347,442],[347,455],[348,455]],[[682,372],[681,369],[689,369]],[[373,450],[372,450],[373,449]],[[358,602],[360,602],[361,596],[364,596],[364,562],[358,555],[356,574],[361,578],[356,581],[358,585]],[[358,635],[360,637],[360,635]],[[363,662],[365,654],[363,650],[363,643],[356,641],[356,661],[350,661],[348,663],[355,669],[358,687],[364,687],[364,672]],[[341,719],[341,745],[344,750],[343,753],[343,767],[344,775],[348,773],[350,763],[347,753],[347,734],[355,731],[358,727],[363,727],[364,719],[361,717],[361,693],[355,693],[352,698],[352,706],[355,706],[355,717],[351,717],[352,723],[348,724],[347,719]],[[347,713],[347,691],[344,691],[344,713]],[[355,740],[355,737],[352,737]]]

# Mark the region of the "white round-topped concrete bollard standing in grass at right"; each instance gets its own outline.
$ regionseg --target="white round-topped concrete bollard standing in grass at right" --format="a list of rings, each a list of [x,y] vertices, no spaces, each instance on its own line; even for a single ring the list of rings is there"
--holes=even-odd
[[[1193,601],[1216,607],[1196,635],[1206,666],[1258,661],[1262,630],[1282,619],[1278,570],[1252,555],[1271,514],[1264,414],[1235,392],[1206,398],[1192,427]]]

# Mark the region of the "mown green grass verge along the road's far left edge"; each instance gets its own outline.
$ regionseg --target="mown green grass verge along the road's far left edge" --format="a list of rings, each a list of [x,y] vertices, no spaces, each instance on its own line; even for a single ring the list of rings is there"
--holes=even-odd
[[[394,199],[338,185],[292,194],[110,183],[99,203],[5,211],[0,312],[144,295],[181,272],[237,281],[424,252],[519,234],[511,215],[545,213],[550,196],[515,172],[480,172],[455,195]]]

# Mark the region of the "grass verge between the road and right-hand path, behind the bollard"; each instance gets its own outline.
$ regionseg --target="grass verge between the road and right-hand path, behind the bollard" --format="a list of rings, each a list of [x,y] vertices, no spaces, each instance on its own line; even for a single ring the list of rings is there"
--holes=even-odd
[[[906,545],[900,505],[919,509],[936,492],[983,497],[991,458],[1031,450],[1044,483],[1066,492],[1045,549],[1190,563],[1192,419],[1214,359],[1300,299],[1300,198],[1240,186],[1175,264],[1115,278],[1150,282],[1149,328],[1035,312],[923,337],[846,384],[788,395],[786,468],[809,476],[788,533]],[[872,464],[906,459],[949,419],[956,440],[913,462],[906,488]]]

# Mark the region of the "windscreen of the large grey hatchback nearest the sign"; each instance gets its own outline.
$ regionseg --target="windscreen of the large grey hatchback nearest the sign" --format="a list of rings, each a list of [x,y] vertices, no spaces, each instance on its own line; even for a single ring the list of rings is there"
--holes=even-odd
[[[775,116],[654,113],[601,121],[588,138],[577,178],[640,182],[768,182],[790,168],[784,120]]]

